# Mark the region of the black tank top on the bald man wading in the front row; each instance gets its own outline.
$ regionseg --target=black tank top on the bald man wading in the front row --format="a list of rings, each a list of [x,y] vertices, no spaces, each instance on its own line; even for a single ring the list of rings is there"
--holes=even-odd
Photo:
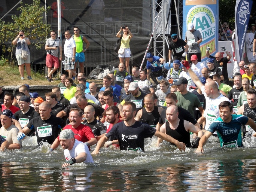
[[[184,120],[180,119],[180,123],[177,129],[173,130],[170,128],[169,122],[165,123],[166,134],[178,140],[179,142],[185,143],[186,147],[192,147],[190,143],[190,133],[186,131],[184,127]],[[174,145],[173,143],[171,143]]]

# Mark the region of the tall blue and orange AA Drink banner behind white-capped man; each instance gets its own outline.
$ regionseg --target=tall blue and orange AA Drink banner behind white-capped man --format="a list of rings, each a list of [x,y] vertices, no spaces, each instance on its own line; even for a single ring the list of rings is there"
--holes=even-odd
[[[203,37],[200,43],[202,61],[207,59],[206,47],[211,48],[210,54],[215,55],[218,50],[218,0],[183,0],[183,36],[187,31],[187,24],[193,23],[194,29],[199,30]]]

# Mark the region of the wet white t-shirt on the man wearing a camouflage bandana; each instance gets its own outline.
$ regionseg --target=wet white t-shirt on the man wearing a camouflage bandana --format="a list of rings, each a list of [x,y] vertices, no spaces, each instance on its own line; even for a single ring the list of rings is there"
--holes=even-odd
[[[87,145],[81,141],[78,141],[75,139],[75,143],[74,146],[71,150],[68,149],[64,149],[64,155],[65,155],[65,159],[66,160],[70,160],[72,157],[76,157],[79,153],[86,153],[86,160],[84,161],[84,163],[94,163],[93,161],[93,157],[90,154],[90,151],[87,147]]]

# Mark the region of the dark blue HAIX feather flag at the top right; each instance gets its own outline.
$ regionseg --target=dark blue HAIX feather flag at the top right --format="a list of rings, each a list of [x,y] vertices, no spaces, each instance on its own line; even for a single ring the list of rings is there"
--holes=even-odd
[[[237,62],[240,62],[242,58],[252,3],[252,0],[236,0],[235,29]]]

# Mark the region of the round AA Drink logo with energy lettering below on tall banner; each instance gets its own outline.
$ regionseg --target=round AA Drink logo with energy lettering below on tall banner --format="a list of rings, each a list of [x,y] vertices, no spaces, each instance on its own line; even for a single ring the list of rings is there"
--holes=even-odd
[[[215,51],[215,18],[215,12],[206,5],[193,6],[187,14],[187,23],[193,23],[206,42],[201,47],[202,58],[205,57],[207,46],[210,47],[211,52]]]

